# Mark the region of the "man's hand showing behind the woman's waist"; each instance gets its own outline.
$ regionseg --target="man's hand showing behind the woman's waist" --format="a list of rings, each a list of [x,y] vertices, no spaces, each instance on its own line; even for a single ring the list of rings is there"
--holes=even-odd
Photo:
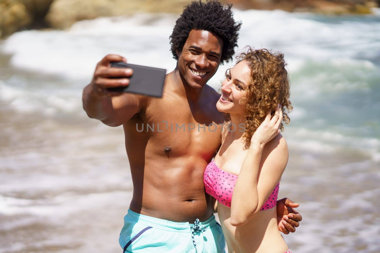
[[[277,200],[277,226],[282,233],[293,233],[299,226],[302,216],[294,210],[298,206],[298,203],[294,203],[288,198]]]

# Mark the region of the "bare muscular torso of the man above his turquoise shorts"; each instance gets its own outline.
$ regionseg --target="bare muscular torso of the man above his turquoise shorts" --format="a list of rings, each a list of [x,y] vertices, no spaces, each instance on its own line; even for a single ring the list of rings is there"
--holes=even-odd
[[[166,77],[163,97],[146,99],[142,110],[123,124],[134,189],[130,209],[193,223],[212,215],[214,200],[205,194],[202,179],[220,147],[223,115],[211,87],[192,101],[177,92],[172,75]],[[215,125],[208,127],[211,123]],[[154,124],[154,130],[147,124]]]

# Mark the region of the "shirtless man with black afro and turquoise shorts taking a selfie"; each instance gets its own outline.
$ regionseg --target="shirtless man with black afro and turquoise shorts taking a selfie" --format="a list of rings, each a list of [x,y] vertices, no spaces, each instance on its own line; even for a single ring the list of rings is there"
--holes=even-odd
[[[215,107],[220,96],[206,83],[220,63],[232,59],[240,26],[231,5],[192,2],[170,36],[177,66],[166,75],[162,98],[107,91],[129,84],[131,69],[109,67],[126,61],[119,55],[103,58],[84,88],[87,115],[108,126],[123,125],[125,133],[133,197],[119,238],[123,252],[225,252],[214,199],[203,186],[225,120]],[[160,124],[160,130],[138,131],[141,124]],[[284,233],[294,232],[301,220],[289,203],[284,198],[277,207],[279,222],[294,212]]]

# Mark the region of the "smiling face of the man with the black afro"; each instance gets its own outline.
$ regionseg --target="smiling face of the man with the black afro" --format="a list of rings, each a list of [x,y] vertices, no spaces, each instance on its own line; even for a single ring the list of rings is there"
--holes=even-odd
[[[214,33],[191,30],[182,52],[177,51],[177,67],[188,86],[202,88],[217,71],[223,40]]]

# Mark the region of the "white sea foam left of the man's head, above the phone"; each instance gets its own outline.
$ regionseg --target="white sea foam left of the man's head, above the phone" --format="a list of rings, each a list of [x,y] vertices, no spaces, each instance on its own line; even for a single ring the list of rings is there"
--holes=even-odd
[[[169,53],[167,27],[173,27],[174,17],[155,27],[135,24],[141,15],[118,22],[112,18],[82,21],[68,31],[14,33],[5,41],[3,51],[13,54],[14,66],[74,79],[90,80],[96,63],[109,53],[120,54],[130,63],[171,71],[175,61]]]

